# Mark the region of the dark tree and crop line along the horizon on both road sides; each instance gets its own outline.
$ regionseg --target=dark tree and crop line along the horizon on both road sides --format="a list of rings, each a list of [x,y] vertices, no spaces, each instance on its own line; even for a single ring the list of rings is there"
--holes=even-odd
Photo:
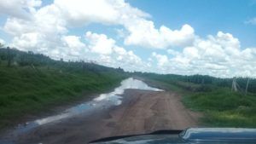
[[[53,68],[67,72],[124,72],[122,68],[113,68],[108,66],[97,65],[94,62],[87,62],[84,60],[53,60],[49,56],[42,54],[35,54],[32,51],[24,52],[18,49],[5,48],[0,43],[0,65],[6,63],[6,66],[31,66],[33,69],[37,69],[38,66],[44,66],[45,68]],[[177,82],[184,82],[190,84],[201,84],[203,89],[208,89],[208,85],[231,88],[234,78],[215,78],[207,75],[177,75],[177,74],[156,74],[149,72],[133,72],[130,73],[140,77],[148,77],[161,80],[163,82],[177,84]],[[236,78],[236,83],[239,85],[240,91],[256,93],[256,79],[250,78]]]

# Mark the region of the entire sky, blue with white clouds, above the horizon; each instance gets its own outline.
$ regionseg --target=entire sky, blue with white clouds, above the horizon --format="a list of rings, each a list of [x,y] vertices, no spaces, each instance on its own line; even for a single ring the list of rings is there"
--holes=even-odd
[[[256,76],[256,0],[0,0],[0,43],[125,71]]]

